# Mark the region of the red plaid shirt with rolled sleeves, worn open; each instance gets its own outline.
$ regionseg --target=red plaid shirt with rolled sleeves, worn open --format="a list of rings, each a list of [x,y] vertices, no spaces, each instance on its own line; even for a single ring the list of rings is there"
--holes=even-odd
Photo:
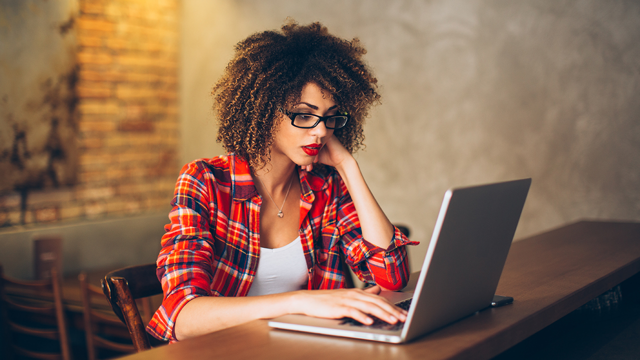
[[[362,238],[346,185],[331,167],[300,170],[300,238],[307,259],[308,289],[344,288],[340,252],[358,278],[389,290],[409,279],[398,229],[381,249]],[[245,296],[260,258],[260,204],[246,161],[233,154],[196,160],[182,168],[175,186],[171,224],[164,227],[157,275],[164,300],[147,327],[175,341],[180,309],[199,296]]]

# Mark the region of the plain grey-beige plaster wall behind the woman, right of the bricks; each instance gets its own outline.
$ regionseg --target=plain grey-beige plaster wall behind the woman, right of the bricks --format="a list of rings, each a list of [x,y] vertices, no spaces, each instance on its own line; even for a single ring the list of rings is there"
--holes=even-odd
[[[222,152],[209,91],[236,42],[287,16],[369,50],[383,103],[358,153],[392,222],[422,241],[447,188],[532,177],[516,238],[640,220],[640,3],[184,0],[182,162]]]

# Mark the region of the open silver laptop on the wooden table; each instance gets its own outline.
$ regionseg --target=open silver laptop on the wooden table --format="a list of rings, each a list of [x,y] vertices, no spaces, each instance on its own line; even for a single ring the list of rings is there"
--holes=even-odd
[[[381,292],[394,304],[411,299],[406,322],[285,315],[269,326],[404,343],[490,306],[530,185],[521,179],[447,190],[415,291]]]

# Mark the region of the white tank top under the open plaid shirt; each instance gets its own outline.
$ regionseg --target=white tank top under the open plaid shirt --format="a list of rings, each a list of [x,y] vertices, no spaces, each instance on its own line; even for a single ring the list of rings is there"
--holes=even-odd
[[[307,260],[300,236],[284,247],[260,247],[260,260],[247,296],[268,295],[306,289]]]

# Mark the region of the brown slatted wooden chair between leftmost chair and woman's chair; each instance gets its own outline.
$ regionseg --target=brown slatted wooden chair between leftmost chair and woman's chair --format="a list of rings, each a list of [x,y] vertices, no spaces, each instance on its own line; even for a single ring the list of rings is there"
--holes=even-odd
[[[129,336],[125,334],[124,336],[126,337],[122,338],[122,336],[113,334],[113,331],[109,334],[106,329],[104,329],[117,329],[118,327],[122,327],[122,322],[120,322],[120,319],[113,313],[109,314],[95,308],[95,304],[92,303],[92,298],[99,297],[100,299],[104,299],[102,290],[89,283],[85,272],[81,272],[81,274],[78,275],[78,280],[80,281],[83,301],[84,336],[86,338],[88,360],[97,359],[97,354],[100,349],[113,350],[116,354],[121,353],[120,355],[122,355],[122,353],[129,354],[135,352],[136,348],[134,348],[131,343]]]

